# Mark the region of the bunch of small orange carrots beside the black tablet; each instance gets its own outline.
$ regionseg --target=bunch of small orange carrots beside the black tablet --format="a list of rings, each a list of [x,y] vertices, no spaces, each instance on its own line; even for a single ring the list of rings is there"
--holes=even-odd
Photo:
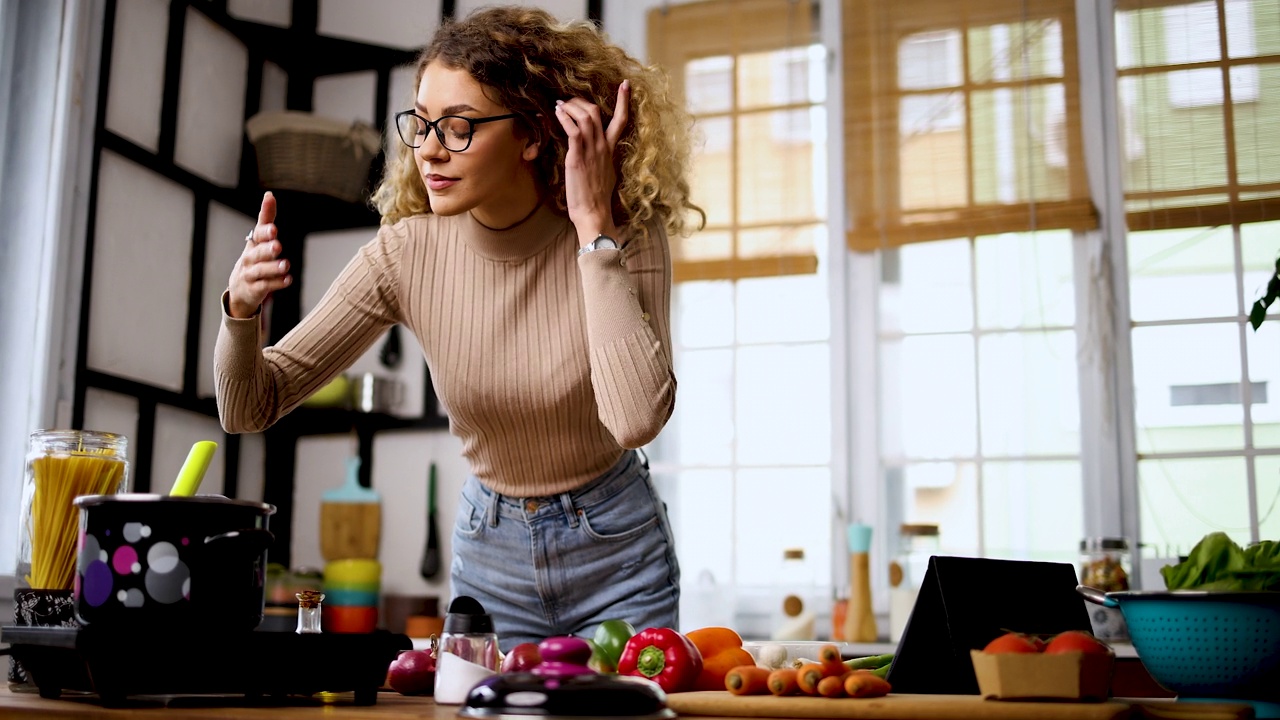
[[[799,667],[733,667],[724,675],[724,688],[733,694],[883,697],[892,689],[884,679],[891,661],[892,656],[883,655],[841,660],[840,648],[826,644],[817,661]]]

